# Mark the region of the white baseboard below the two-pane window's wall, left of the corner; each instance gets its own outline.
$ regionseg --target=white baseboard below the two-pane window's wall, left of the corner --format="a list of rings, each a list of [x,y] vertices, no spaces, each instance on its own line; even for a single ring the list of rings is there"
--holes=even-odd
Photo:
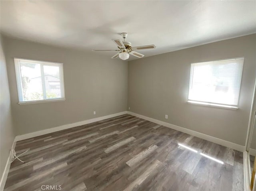
[[[24,134],[24,135],[18,135],[18,136],[15,137],[14,141],[17,142],[17,141],[21,141],[21,140],[25,140],[25,139],[29,139],[29,138],[33,138],[33,137],[37,137],[37,136],[41,136],[41,135],[45,135],[45,134],[48,134],[48,133],[61,131],[61,130],[64,130],[64,129],[77,127],[77,126],[80,126],[80,125],[85,125],[85,124],[97,122],[97,121],[100,121],[100,120],[104,120],[104,119],[108,119],[108,118],[112,118],[112,117],[116,117],[116,116],[120,116],[120,115],[124,115],[124,114],[127,114],[127,111],[123,111],[123,112],[119,112],[119,113],[115,113],[115,114],[111,114],[111,115],[106,115],[106,116],[102,116],[102,117],[92,118],[92,119],[88,119],[88,120],[84,120],[84,121],[80,121],[80,122],[75,122],[75,123],[71,123],[71,124],[66,124],[66,125],[62,125],[62,126],[58,126],[58,127],[53,127],[53,128],[49,128],[49,129],[45,129],[45,130],[41,130],[41,131],[36,131],[36,132]]]

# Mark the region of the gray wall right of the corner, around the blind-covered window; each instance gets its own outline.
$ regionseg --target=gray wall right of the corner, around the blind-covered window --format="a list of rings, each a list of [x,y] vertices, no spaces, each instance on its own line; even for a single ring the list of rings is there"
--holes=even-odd
[[[128,107],[132,112],[244,146],[256,76],[255,55],[253,34],[129,61]],[[188,104],[190,63],[234,57],[245,57],[239,109]]]

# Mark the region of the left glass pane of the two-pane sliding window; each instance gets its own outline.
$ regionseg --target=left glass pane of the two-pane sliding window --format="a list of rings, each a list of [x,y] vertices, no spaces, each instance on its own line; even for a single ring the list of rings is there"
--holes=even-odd
[[[42,100],[42,78],[40,64],[20,62],[22,93],[24,101]]]

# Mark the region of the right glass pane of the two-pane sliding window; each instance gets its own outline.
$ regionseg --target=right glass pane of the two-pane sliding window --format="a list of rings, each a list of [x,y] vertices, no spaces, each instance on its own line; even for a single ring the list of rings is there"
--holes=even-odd
[[[60,67],[44,65],[46,98],[61,98]]]

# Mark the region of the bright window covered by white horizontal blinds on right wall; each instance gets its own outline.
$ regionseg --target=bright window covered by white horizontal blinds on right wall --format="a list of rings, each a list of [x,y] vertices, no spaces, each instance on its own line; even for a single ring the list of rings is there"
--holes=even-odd
[[[238,108],[244,58],[192,63],[188,102]]]

